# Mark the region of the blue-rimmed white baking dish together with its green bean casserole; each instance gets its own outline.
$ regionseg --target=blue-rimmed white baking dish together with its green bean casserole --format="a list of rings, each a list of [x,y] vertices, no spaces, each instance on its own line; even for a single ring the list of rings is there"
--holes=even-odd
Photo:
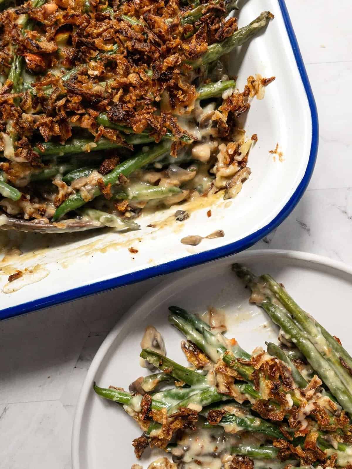
[[[238,2],[238,26],[234,2],[129,5],[7,10],[24,24],[4,46],[0,223],[26,233],[0,233],[3,318],[245,249],[309,182],[317,117],[282,1]]]

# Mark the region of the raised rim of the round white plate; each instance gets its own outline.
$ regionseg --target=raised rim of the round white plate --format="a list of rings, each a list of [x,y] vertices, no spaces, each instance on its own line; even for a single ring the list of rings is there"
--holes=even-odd
[[[309,262],[315,265],[321,265],[324,267],[328,267],[330,269],[338,270],[342,273],[345,273],[352,277],[352,266],[342,262],[337,261],[334,259],[330,259],[329,257],[321,256],[319,254],[312,254],[309,252],[304,251],[297,251],[297,250],[282,250],[282,249],[258,249],[258,250],[250,250],[241,253],[237,253],[232,258],[238,259],[239,257],[244,257],[245,260],[243,262],[248,262],[253,260],[256,257],[283,257],[287,259],[294,259],[298,261]],[[231,262],[229,258],[222,258],[218,259],[217,261],[219,264],[223,263],[226,264],[227,262]],[[195,274],[196,271],[189,271],[188,275]],[[352,280],[352,279],[351,279]],[[118,334],[121,332],[122,328],[126,326],[128,322],[133,322],[134,318],[138,316],[139,309],[143,306],[144,303],[149,302],[150,300],[154,299],[157,295],[159,295],[162,291],[168,288],[174,288],[175,284],[179,281],[184,281],[184,272],[178,272],[174,278],[172,279],[165,279],[159,285],[153,287],[148,293],[142,296],[129,310],[127,310],[122,317],[118,320],[115,326],[111,329],[111,331],[107,334],[107,337],[103,340],[102,344],[100,345],[97,353],[95,354],[92,363],[87,371],[86,377],[84,378],[84,382],[81,388],[81,391],[78,396],[77,406],[75,410],[75,416],[72,425],[72,436],[71,436],[71,462],[72,462],[72,469],[80,469],[79,463],[79,439],[80,439],[80,429],[82,424],[82,419],[84,415],[84,407],[86,405],[87,399],[89,397],[89,393],[91,392],[91,384],[96,375],[96,372],[99,369],[99,365],[107,354],[107,351],[115,341]]]

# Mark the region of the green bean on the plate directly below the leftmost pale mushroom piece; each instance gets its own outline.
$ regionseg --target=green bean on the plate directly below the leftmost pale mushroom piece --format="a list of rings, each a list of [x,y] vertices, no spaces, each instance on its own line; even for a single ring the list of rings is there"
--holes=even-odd
[[[196,371],[192,371],[185,366],[182,366],[170,358],[163,356],[157,352],[153,352],[149,348],[144,348],[140,355],[149,363],[152,363],[156,368],[159,368],[161,371],[167,371],[173,378],[178,379],[179,381],[184,381],[190,386],[205,383],[207,378],[200,375]]]

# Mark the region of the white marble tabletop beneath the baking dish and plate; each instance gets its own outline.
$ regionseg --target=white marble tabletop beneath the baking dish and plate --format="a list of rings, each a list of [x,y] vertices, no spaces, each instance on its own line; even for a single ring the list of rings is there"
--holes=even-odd
[[[351,5],[287,0],[287,7],[318,106],[319,155],[296,209],[255,247],[351,264]],[[71,468],[71,426],[92,358],[121,315],[160,281],[0,323],[0,469]]]

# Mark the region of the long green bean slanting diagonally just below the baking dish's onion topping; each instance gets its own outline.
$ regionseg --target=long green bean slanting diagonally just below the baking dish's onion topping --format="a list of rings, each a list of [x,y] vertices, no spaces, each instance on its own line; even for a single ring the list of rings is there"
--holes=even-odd
[[[163,141],[149,148],[147,151],[139,151],[133,158],[123,161],[123,163],[117,165],[109,174],[102,176],[102,180],[106,186],[107,184],[116,184],[119,181],[120,174],[127,177],[169,150],[169,142]],[[95,187],[92,191],[92,199],[98,197],[100,194],[99,187]],[[65,213],[71,212],[71,210],[77,210],[77,208],[82,207],[86,202],[87,201],[85,201],[79,193],[70,196],[56,209],[53,220],[57,221],[61,219]]]

